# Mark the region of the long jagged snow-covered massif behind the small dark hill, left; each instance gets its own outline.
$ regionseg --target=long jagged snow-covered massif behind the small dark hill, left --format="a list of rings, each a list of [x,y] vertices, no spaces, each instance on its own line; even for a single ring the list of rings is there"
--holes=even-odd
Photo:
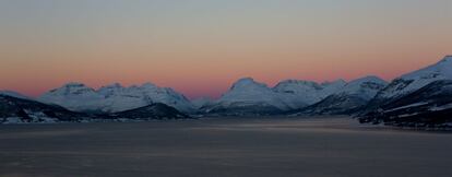
[[[194,107],[183,95],[152,83],[130,87],[115,83],[97,91],[82,83],[68,83],[43,94],[38,101],[74,111],[117,113],[154,103],[163,103],[183,113],[194,111]]]

